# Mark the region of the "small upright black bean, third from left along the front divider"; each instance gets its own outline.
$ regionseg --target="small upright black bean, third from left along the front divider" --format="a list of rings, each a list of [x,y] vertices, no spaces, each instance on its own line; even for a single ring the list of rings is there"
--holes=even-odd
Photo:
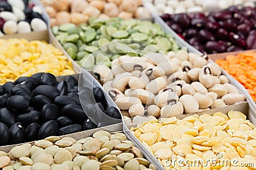
[[[40,129],[40,125],[33,123],[28,125],[26,128],[24,135],[25,135],[25,140],[26,141],[35,141],[38,139],[38,132]]]

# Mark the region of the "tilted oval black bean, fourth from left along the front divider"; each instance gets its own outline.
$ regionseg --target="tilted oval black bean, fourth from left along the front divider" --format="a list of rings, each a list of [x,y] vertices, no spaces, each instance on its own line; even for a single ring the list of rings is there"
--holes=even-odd
[[[38,138],[44,139],[48,136],[52,136],[58,132],[58,123],[55,120],[49,120],[43,124],[38,132]]]

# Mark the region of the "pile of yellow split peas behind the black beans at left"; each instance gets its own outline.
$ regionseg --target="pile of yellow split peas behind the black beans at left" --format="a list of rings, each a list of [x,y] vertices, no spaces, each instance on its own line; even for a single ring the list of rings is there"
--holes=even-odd
[[[55,76],[75,73],[71,61],[44,41],[0,39],[0,85],[38,72]]]

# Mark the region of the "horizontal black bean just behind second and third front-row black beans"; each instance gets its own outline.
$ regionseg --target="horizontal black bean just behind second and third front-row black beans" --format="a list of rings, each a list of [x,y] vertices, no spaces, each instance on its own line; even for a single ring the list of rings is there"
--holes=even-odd
[[[20,122],[25,127],[32,123],[40,122],[39,111],[29,111],[28,113],[20,114],[16,118],[17,122]]]

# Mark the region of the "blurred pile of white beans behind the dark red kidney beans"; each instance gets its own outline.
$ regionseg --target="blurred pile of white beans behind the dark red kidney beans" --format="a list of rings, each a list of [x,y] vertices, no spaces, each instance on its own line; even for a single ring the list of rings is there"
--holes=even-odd
[[[193,13],[203,11],[214,11],[228,8],[232,5],[243,4],[244,6],[255,6],[255,0],[151,0],[159,15],[163,13]]]

